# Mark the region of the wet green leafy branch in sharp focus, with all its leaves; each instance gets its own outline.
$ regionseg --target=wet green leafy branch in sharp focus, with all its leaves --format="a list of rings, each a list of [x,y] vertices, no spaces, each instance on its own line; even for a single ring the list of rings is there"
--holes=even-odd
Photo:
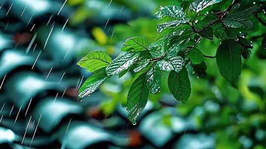
[[[254,4],[240,10],[239,0],[234,0],[225,11],[201,13],[221,1],[195,0],[187,13],[178,6],[161,6],[155,15],[167,21],[158,24],[157,29],[166,35],[156,42],[149,44],[146,39],[132,37],[113,60],[104,51],[90,52],[78,62],[79,66],[93,73],[79,89],[79,98],[92,94],[111,75],[122,77],[131,72],[134,81],[128,93],[127,110],[129,120],[135,124],[149,94],[160,92],[163,71],[170,72],[168,88],[173,97],[186,103],[191,94],[186,66],[191,65],[199,77],[206,75],[203,57],[216,58],[220,74],[235,86],[241,73],[242,57],[248,58],[253,47],[245,33],[239,30],[251,29],[253,22],[249,16],[262,11],[265,6]],[[202,38],[221,40],[216,56],[204,55],[195,48]],[[264,38],[264,48],[265,43]]]

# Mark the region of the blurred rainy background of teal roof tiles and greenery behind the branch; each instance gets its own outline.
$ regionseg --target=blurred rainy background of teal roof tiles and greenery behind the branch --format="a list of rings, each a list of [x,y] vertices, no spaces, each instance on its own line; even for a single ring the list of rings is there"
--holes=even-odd
[[[188,9],[191,1],[1,0],[0,149],[266,149],[266,27],[254,16],[254,28],[244,31],[254,48],[236,88],[221,77],[215,59],[205,58],[206,75],[189,69],[193,90],[186,104],[169,94],[163,78],[162,92],[149,97],[136,125],[124,107],[130,73],[77,100],[91,75],[75,65],[79,59],[92,50],[115,57],[133,36],[155,41],[162,36],[156,9]],[[256,1],[242,0],[241,7]],[[219,43],[202,40],[197,48],[215,55]]]

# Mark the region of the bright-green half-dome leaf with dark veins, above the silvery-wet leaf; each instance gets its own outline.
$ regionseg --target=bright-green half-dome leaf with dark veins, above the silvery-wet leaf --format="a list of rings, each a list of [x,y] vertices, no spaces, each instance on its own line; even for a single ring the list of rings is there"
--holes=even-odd
[[[148,50],[149,44],[148,41],[141,37],[132,37],[129,38],[125,44],[122,46],[122,51],[143,51]]]

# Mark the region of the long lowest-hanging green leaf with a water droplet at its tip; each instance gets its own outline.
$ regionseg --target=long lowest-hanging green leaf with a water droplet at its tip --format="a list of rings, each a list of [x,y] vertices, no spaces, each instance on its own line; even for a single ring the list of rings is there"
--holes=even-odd
[[[132,84],[127,101],[128,118],[132,124],[136,124],[137,117],[145,108],[149,90],[146,86],[146,73],[140,75]]]

